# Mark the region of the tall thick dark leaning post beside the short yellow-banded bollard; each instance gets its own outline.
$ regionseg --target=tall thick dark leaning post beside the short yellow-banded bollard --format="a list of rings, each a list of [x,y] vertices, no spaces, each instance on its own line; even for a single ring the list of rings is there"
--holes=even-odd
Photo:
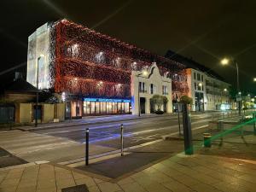
[[[194,154],[189,105],[187,103],[183,103],[183,137],[185,154]]]

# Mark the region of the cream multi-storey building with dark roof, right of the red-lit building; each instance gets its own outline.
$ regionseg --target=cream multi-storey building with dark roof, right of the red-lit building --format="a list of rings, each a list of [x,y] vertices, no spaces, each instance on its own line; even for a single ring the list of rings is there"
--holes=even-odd
[[[166,58],[183,63],[187,69],[189,96],[193,98],[193,110],[230,109],[230,84],[218,73],[200,63],[168,50]]]

